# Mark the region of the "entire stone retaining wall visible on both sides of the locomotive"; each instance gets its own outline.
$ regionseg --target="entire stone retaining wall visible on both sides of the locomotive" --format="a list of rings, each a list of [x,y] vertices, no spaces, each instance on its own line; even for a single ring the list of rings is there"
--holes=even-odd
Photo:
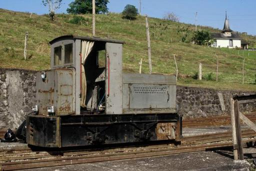
[[[35,71],[0,68],[0,129],[16,128],[35,104]],[[226,115],[229,98],[242,91],[177,86],[177,111],[184,119]],[[256,103],[240,105],[255,111]]]

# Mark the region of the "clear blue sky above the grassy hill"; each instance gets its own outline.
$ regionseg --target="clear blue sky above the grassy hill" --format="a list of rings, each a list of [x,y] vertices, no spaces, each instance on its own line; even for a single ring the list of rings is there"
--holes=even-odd
[[[57,13],[65,13],[71,1],[62,0]],[[109,0],[108,11],[121,12],[126,4],[139,8],[139,0]],[[220,29],[223,28],[227,11],[232,30],[256,35],[255,0],[141,0],[141,4],[141,13],[151,17],[162,18],[167,12],[174,12],[180,22]],[[0,8],[37,14],[48,12],[41,0],[0,0]]]

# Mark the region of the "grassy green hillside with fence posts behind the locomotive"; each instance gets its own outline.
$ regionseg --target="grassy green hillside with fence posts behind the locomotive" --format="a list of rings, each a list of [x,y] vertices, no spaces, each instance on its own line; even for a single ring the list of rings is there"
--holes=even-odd
[[[0,67],[48,69],[48,41],[63,35],[76,34],[91,36],[91,15],[82,15],[88,23],[83,25],[68,23],[72,15],[58,14],[55,21],[50,21],[47,15],[14,12],[0,9]],[[220,23],[222,24],[222,23]],[[178,84],[202,86],[222,89],[256,90],[256,52],[213,48],[189,43],[194,28],[191,24],[149,18],[152,68],[154,73],[173,74],[175,65],[173,53],[179,70]],[[219,30],[201,27],[209,31]],[[23,59],[24,35],[28,31],[29,59]],[[124,40],[123,69],[126,72],[138,72],[138,62],[143,58],[142,72],[148,73],[147,42],[144,17],[136,20],[122,19],[120,14],[109,13],[96,15],[96,35]],[[250,42],[256,37],[241,34]],[[183,38],[182,38],[183,37]],[[183,39],[184,42],[181,41]],[[215,78],[216,55],[219,57],[219,82],[207,80]],[[238,54],[239,53],[239,54]],[[245,58],[245,83],[242,81],[242,61]],[[192,78],[202,63],[204,80]],[[212,74],[211,74],[212,73]],[[211,75],[211,76],[210,76]]]

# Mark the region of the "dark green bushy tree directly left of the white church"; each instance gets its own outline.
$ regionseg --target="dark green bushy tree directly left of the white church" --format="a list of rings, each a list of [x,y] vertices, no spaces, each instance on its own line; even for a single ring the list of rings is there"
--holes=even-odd
[[[192,41],[198,45],[210,45],[211,44],[211,37],[208,31],[195,31],[192,37]]]

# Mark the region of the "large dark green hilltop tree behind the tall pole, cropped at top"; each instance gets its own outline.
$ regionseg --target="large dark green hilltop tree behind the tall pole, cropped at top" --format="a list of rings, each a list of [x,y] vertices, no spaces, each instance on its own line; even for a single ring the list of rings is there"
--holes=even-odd
[[[106,13],[108,8],[106,4],[109,0],[95,0],[95,12]],[[84,14],[92,13],[92,0],[74,0],[69,3],[69,8],[66,9],[67,13]]]

